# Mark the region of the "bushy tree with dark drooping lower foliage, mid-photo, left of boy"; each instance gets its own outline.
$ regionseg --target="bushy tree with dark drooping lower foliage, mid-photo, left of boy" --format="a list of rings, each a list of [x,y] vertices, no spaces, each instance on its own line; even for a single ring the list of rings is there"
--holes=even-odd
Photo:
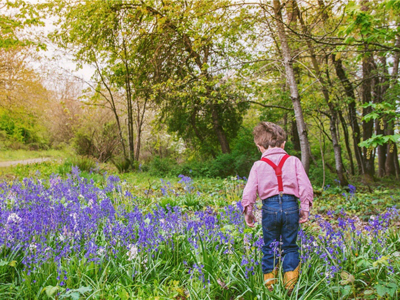
[[[251,22],[245,18],[245,6],[228,0],[169,0],[143,2],[136,9],[147,11],[160,34],[170,34],[170,42],[159,45],[164,51],[178,45],[175,57],[168,57],[165,64],[173,65],[176,57],[180,61],[159,93],[169,128],[186,139],[194,133],[191,136],[213,155],[214,140],[222,153],[230,152],[229,139],[235,136],[246,107],[236,104],[239,96],[229,87],[233,81],[228,78],[229,72],[229,77],[237,72],[231,65],[246,57],[245,37]]]

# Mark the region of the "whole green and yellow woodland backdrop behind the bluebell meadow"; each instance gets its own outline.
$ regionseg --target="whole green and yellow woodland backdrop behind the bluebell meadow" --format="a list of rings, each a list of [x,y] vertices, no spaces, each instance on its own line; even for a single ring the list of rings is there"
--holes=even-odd
[[[70,144],[121,170],[246,175],[259,158],[251,129],[266,120],[286,130],[286,150],[310,176],[347,185],[400,174],[399,1],[2,0],[0,9],[3,148]],[[48,35],[32,34],[44,24]],[[48,45],[90,66],[91,78],[35,69]]]

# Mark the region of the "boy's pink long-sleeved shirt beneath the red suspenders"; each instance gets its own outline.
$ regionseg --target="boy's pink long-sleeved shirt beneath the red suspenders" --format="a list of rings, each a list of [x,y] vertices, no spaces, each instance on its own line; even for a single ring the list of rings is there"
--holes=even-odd
[[[287,153],[282,148],[269,148],[262,153],[261,158],[266,157],[278,165],[284,154]],[[312,206],[313,190],[300,159],[295,156],[286,159],[282,166],[282,181],[283,193],[299,198],[301,210],[309,211],[309,207]],[[260,199],[279,194],[274,169],[261,160],[254,162],[248,175],[241,200],[243,209],[248,206],[247,211],[252,210],[257,194]]]

